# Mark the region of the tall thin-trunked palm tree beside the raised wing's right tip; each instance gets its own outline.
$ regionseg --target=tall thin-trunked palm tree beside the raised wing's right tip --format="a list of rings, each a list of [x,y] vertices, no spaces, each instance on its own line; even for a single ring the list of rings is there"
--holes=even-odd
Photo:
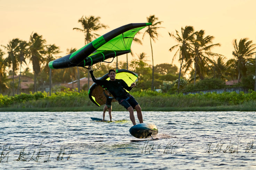
[[[152,25],[147,27],[147,30],[145,31],[144,35],[147,33],[149,34],[150,37],[150,46],[151,46],[151,54],[152,54],[152,84],[151,84],[151,91],[153,91],[154,88],[154,60],[153,60],[153,48],[152,48],[152,42],[151,39],[155,42],[155,40],[158,38],[158,33],[157,30],[159,28],[163,28],[163,27],[158,27],[158,25],[161,25],[163,21],[157,21],[158,18],[155,17],[155,15],[151,15],[149,17],[147,17],[147,22],[148,23],[152,23]],[[143,39],[142,37],[142,39]]]

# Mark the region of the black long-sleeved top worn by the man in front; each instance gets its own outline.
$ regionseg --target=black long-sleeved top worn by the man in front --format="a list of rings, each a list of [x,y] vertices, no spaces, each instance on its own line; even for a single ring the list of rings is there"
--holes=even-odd
[[[93,79],[93,82],[107,88],[107,90],[114,96],[116,100],[120,101],[130,96],[130,94],[126,90],[130,91],[132,87],[129,87],[126,84],[126,82],[123,81],[122,79],[115,79],[114,81],[97,80],[95,79],[92,70],[90,71],[90,74],[91,74],[91,79]]]

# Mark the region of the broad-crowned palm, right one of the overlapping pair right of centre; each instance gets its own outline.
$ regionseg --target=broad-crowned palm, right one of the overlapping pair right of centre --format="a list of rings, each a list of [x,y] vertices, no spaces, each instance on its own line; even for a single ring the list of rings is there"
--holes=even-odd
[[[205,31],[200,30],[199,32],[195,32],[196,39],[192,42],[191,51],[192,51],[192,60],[194,60],[194,85],[196,80],[197,73],[199,74],[200,80],[203,80],[205,74],[207,72],[207,66],[209,67],[209,63],[213,63],[213,61],[209,58],[215,56],[221,56],[221,54],[211,52],[211,49],[216,46],[221,46],[219,43],[213,44],[212,41],[214,36],[205,36]],[[187,69],[190,67],[191,62],[187,62]]]

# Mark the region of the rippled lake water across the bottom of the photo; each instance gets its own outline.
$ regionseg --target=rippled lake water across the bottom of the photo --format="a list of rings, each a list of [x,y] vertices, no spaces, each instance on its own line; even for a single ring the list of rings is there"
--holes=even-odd
[[[127,111],[90,117],[102,111],[0,112],[0,169],[256,169],[255,112],[144,111],[155,140],[129,134]]]

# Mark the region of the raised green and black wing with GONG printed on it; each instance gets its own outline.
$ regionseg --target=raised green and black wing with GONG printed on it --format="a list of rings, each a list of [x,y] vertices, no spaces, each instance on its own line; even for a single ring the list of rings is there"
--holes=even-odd
[[[50,61],[51,69],[91,66],[109,58],[131,52],[131,43],[139,30],[151,23],[132,23],[116,28],[83,46],[78,51]]]

